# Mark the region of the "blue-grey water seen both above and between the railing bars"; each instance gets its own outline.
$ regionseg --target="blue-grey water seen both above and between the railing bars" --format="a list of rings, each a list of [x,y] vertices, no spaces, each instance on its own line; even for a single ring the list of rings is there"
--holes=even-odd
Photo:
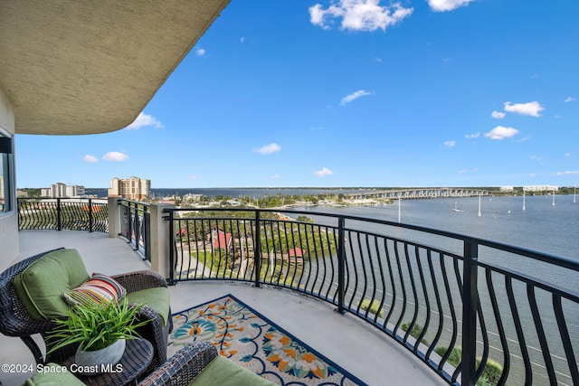
[[[526,197],[525,210],[523,210],[523,197],[486,197],[479,198],[441,198],[429,200],[407,200],[384,206],[350,206],[350,207],[304,207],[299,208],[306,212],[329,212],[332,214],[374,218],[384,221],[397,222],[399,215],[403,223],[419,225],[441,231],[450,231],[461,235],[472,236],[484,240],[493,240],[501,243],[517,246],[524,249],[533,249],[565,259],[579,260],[579,203],[574,203],[573,195],[555,195],[555,206],[552,195],[536,195]],[[400,214],[399,214],[400,213]],[[310,217],[308,215],[308,217]],[[323,222],[322,216],[311,215],[316,222]],[[346,227],[347,227],[346,221]],[[375,224],[365,224],[365,231],[380,232]],[[358,226],[359,228],[359,226]],[[402,240],[414,240],[413,231],[392,227],[390,236]],[[384,229],[382,229],[384,232]],[[388,233],[388,231],[386,231]],[[445,250],[455,250],[460,254],[460,244],[452,240],[435,240],[438,236],[420,234],[417,241],[424,245],[435,246]],[[484,248],[482,248],[484,249]],[[546,263],[533,259],[503,253],[496,250],[479,249],[479,259],[498,266],[510,268],[514,271],[529,275],[541,281],[576,293],[579,291],[579,278],[574,271],[556,268]],[[355,251],[356,255],[356,251]],[[484,256],[483,256],[484,255]],[[405,277],[407,278],[407,277]],[[430,278],[425,278],[426,285]],[[498,298],[503,328],[509,340],[510,373],[509,383],[522,384],[526,379],[526,370],[523,365],[522,353],[517,345],[517,332],[513,318],[508,307],[507,292],[504,287],[504,279],[496,276],[494,291]],[[502,285],[502,286],[501,286]],[[355,286],[351,286],[355,287]],[[454,288],[453,286],[451,286]],[[373,287],[370,287],[373,290]],[[453,289],[456,291],[456,288]],[[527,287],[515,280],[513,285],[514,297],[517,299],[518,316],[520,317],[523,330],[526,332],[525,346],[532,363],[533,384],[547,385],[543,351],[539,344],[535,331],[534,318],[527,303]],[[541,314],[542,328],[549,342],[549,350],[555,372],[557,384],[570,385],[573,383],[568,373],[568,363],[565,361],[565,351],[561,343],[559,325],[553,315],[552,299],[541,290],[536,289],[537,305]],[[486,328],[489,331],[489,355],[497,362],[501,362],[504,353],[498,339],[498,329],[493,319],[493,311],[490,303],[489,291],[484,278],[484,273],[479,271],[479,296],[483,314],[487,315]],[[422,295],[419,294],[422,298]],[[454,292],[454,298],[460,295]],[[402,300],[400,297],[398,297]],[[418,304],[422,301],[417,302]],[[443,307],[444,308],[444,307]],[[579,347],[579,307],[566,302],[564,306],[567,331],[570,335],[570,343]],[[403,311],[401,311],[403,312]],[[423,306],[419,307],[419,320],[426,313]],[[448,317],[449,312],[443,311]],[[394,313],[395,315],[395,313]],[[459,316],[460,317],[460,316]],[[422,319],[423,320],[423,319]],[[446,327],[442,336],[450,336],[451,331]],[[432,339],[432,332],[425,335],[426,339]],[[479,352],[482,340],[478,340]]]

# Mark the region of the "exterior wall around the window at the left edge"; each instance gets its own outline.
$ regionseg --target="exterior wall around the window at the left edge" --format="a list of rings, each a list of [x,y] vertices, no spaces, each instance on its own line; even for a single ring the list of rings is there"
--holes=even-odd
[[[14,108],[12,102],[0,89],[0,129],[7,135],[14,136]],[[14,167],[15,169],[15,167]],[[16,197],[16,184],[12,184],[13,197]],[[9,267],[18,257],[18,213],[16,211],[0,214],[0,270]]]

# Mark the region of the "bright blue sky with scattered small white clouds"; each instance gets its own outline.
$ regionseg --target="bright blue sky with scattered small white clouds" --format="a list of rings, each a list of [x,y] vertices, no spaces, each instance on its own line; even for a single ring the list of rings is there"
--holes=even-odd
[[[577,14],[577,0],[233,0],[130,127],[17,136],[17,185],[573,186]]]

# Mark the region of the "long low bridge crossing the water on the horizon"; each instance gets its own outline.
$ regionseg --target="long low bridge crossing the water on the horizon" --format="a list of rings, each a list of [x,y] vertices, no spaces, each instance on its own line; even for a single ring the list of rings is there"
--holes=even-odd
[[[398,200],[421,199],[421,198],[438,198],[438,197],[478,197],[489,196],[490,191],[473,188],[413,188],[413,189],[390,189],[384,191],[370,191],[359,193],[347,193],[346,197],[362,200],[367,198],[382,198]]]

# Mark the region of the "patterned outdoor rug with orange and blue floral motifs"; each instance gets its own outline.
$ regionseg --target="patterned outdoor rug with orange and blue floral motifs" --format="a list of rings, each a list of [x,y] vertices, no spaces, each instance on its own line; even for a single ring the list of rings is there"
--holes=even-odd
[[[232,295],[173,315],[167,356],[195,340],[280,385],[365,385]]]

